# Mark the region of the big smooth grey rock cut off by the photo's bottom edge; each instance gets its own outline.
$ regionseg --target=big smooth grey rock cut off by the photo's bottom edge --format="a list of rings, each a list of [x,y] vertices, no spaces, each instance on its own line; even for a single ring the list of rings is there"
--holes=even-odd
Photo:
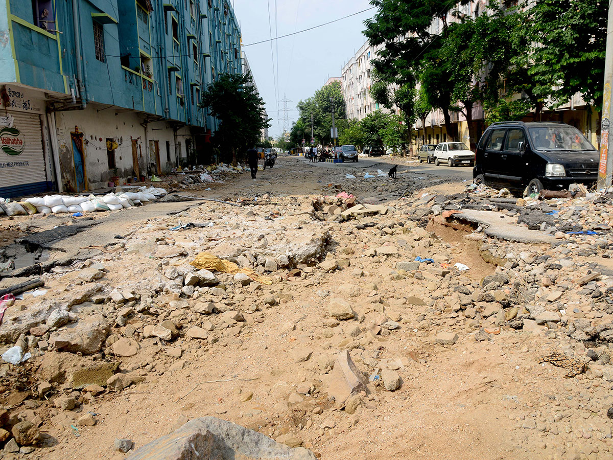
[[[305,448],[290,448],[256,431],[215,417],[195,418],[144,445],[126,460],[315,460]]]

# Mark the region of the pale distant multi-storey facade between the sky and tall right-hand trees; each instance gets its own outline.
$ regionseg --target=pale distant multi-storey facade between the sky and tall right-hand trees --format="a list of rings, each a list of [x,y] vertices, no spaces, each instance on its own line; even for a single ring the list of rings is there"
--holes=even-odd
[[[370,87],[373,84],[371,62],[375,59],[380,48],[371,46],[367,41],[356,55],[343,66],[341,85],[343,86],[343,96],[345,96],[347,106],[347,118],[350,120],[362,120],[368,113],[375,110],[390,113],[390,110],[379,106],[378,102],[375,102],[370,95]],[[393,112],[397,113],[397,109],[394,109]]]

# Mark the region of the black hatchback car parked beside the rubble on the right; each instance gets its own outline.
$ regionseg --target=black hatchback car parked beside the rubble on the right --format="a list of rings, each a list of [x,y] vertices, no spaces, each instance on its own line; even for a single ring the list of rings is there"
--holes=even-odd
[[[475,183],[528,194],[598,180],[598,151],[565,123],[508,121],[489,126],[476,150]]]

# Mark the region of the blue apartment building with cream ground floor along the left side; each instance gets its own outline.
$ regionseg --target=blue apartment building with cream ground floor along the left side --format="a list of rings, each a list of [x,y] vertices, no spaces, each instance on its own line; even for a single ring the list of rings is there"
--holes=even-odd
[[[0,0],[0,197],[206,161],[240,40],[229,0]]]

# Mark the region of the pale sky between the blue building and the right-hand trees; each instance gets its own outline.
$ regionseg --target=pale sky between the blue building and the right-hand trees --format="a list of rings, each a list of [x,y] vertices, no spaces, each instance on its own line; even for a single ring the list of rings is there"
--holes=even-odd
[[[298,117],[296,104],[312,96],[328,77],[340,77],[343,65],[364,44],[364,20],[375,10],[270,43],[245,46],[270,39],[268,4],[272,36],[283,36],[370,7],[368,0],[231,0],[240,21],[243,51],[256,80],[268,117],[272,118],[270,136],[283,130],[283,99],[286,94],[289,126]],[[275,90],[278,45],[278,88]],[[273,58],[275,65],[273,66]],[[278,98],[277,98],[278,93]],[[278,109],[277,105],[278,104]],[[278,112],[277,112],[278,110]]]

